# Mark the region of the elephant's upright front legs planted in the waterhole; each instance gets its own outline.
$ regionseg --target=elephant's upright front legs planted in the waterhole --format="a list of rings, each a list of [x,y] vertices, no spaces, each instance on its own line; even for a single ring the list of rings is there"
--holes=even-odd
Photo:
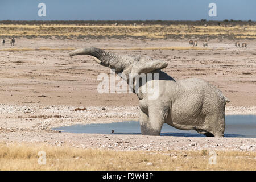
[[[142,135],[160,135],[170,105],[164,102],[148,104],[148,115],[141,111]]]

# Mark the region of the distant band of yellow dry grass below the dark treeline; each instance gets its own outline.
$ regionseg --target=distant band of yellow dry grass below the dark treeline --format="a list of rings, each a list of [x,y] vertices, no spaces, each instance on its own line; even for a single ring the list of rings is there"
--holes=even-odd
[[[65,38],[131,36],[135,38],[188,38],[208,36],[212,38],[256,38],[256,26],[187,26],[187,25],[147,25],[147,26],[113,26],[113,25],[0,25],[0,36],[63,36]]]

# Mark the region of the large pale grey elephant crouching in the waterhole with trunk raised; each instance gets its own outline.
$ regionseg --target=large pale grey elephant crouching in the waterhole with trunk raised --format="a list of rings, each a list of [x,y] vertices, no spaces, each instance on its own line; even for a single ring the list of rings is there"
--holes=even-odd
[[[130,73],[159,73],[157,99],[149,99],[148,93],[137,93],[143,135],[160,135],[163,123],[167,123],[181,130],[196,130],[207,137],[224,137],[225,102],[229,100],[208,82],[197,78],[175,81],[161,71],[167,63],[150,56],[115,55],[94,47],[69,53],[69,56],[75,55],[94,56],[97,63],[126,76]],[[155,79],[150,80],[152,85]],[[139,90],[143,86],[146,84],[140,85]]]

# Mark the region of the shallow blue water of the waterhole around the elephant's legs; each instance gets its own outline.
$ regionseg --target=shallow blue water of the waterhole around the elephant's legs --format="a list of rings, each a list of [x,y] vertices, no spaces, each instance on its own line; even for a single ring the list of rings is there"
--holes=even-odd
[[[256,138],[256,115],[227,115],[225,137]],[[102,124],[72,125],[53,128],[69,133],[97,134],[141,134],[139,121],[125,121]],[[112,133],[113,131],[113,133]],[[160,135],[204,137],[193,130],[179,130],[164,123]]]

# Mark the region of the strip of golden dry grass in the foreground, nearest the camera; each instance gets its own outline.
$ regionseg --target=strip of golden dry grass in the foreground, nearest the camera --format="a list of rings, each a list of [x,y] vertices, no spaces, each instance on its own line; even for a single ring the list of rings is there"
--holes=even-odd
[[[46,164],[38,164],[38,152]],[[203,151],[113,151],[47,144],[0,144],[0,170],[255,170],[256,152],[216,151],[210,165]],[[152,165],[146,165],[147,163]]]

